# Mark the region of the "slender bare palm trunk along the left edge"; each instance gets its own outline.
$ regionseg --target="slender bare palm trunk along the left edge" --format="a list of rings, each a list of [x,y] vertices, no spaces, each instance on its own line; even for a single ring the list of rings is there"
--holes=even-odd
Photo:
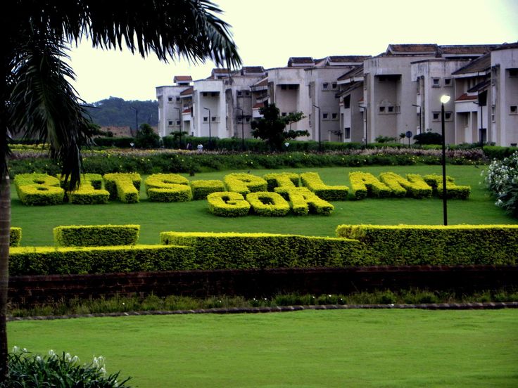
[[[9,175],[0,183],[0,383],[8,373],[7,286],[9,281],[9,235],[11,233],[11,189]]]

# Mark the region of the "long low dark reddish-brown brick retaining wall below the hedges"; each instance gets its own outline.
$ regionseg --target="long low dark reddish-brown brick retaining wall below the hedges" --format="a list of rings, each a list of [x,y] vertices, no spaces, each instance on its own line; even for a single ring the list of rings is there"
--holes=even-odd
[[[251,298],[289,292],[347,294],[410,287],[455,292],[518,287],[518,266],[369,266],[11,276],[8,297],[13,304],[28,306],[75,297],[145,297],[151,293]]]

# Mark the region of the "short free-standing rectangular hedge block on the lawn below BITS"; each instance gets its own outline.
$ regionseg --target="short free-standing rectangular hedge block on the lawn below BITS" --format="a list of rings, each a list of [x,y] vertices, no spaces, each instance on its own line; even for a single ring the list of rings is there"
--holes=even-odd
[[[135,245],[140,225],[80,225],[56,226],[54,242],[61,247],[100,247]]]

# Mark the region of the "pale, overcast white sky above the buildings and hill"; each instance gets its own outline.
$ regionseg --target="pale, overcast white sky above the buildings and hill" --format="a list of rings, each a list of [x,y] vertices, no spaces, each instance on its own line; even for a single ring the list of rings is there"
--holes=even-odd
[[[213,0],[232,25],[243,65],[282,67],[291,56],[372,55],[388,44],[501,44],[518,41],[518,0]],[[70,51],[84,101],[155,100],[175,75],[202,79],[215,67],[161,63],[88,41]]]

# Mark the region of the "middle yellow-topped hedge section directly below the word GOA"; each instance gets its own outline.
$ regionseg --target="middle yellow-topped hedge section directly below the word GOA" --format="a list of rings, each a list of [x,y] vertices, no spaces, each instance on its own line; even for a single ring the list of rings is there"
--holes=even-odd
[[[345,238],[163,232],[160,241],[194,247],[194,269],[341,267],[362,263],[360,243]]]

